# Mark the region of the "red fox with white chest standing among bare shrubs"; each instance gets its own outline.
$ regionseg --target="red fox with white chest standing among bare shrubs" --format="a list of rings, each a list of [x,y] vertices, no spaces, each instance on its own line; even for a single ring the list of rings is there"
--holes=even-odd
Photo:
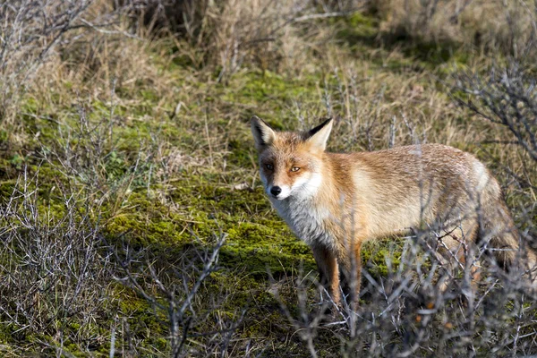
[[[276,132],[259,117],[251,118],[268,198],[311,247],[334,303],[341,300],[340,272],[355,277],[351,298],[357,303],[363,242],[413,227],[443,223],[440,246],[459,262],[465,260],[465,243],[483,239],[504,249],[494,251],[501,262],[516,260],[519,235],[499,183],[473,155],[440,144],[329,153],[332,124]],[[534,267],[537,255],[524,253],[525,269]],[[472,272],[479,274],[476,267]]]

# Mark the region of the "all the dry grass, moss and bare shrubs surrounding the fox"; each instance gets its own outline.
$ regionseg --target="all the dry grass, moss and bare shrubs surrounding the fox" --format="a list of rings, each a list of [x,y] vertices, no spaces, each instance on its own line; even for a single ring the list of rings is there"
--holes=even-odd
[[[0,355],[537,354],[520,273],[482,245],[469,296],[467,269],[435,259],[434,227],[369,244],[360,310],[328,320],[247,124],[333,116],[332,150],[471,151],[535,247],[535,13],[525,0],[0,4]]]

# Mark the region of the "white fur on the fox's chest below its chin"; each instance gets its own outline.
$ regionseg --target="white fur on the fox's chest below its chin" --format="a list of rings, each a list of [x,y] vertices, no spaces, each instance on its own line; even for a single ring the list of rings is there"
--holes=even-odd
[[[330,216],[328,209],[319,208],[311,199],[301,200],[290,197],[286,200],[271,201],[279,216],[286,220],[294,234],[304,243],[310,246],[323,244],[333,247],[335,245],[324,224]]]

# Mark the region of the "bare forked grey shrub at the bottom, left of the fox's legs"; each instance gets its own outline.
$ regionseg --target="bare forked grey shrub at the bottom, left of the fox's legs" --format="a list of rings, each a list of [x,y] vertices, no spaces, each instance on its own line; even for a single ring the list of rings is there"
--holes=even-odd
[[[114,251],[122,268],[115,279],[146,299],[156,317],[165,318],[173,357],[227,356],[237,345],[234,332],[242,323],[244,308],[226,311],[222,306],[230,303],[233,293],[220,287],[217,294],[208,294],[204,287],[219,269],[218,253],[224,243],[225,235],[220,234],[212,249],[184,251],[171,265],[150,259],[147,251],[132,252],[128,243]],[[192,340],[199,345],[191,345]]]

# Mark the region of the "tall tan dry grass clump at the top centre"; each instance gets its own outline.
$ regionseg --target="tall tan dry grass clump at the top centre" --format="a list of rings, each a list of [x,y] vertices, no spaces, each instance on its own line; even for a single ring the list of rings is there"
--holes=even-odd
[[[359,1],[255,0],[223,2],[154,1],[141,13],[146,26],[172,33],[193,47],[192,60],[218,68],[218,81],[243,66],[281,71],[308,64],[309,48],[326,40],[327,28],[311,25],[342,16],[361,6]]]

